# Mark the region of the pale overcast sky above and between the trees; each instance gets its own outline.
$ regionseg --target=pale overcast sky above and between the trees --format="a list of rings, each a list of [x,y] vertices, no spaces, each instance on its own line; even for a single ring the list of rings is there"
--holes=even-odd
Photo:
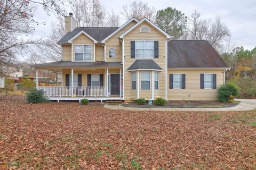
[[[101,4],[107,11],[114,10],[115,13],[122,11],[124,4],[133,1],[101,0]],[[231,31],[231,40],[235,46],[243,46],[252,49],[256,46],[256,0],[148,0],[149,6],[154,6],[157,10],[167,6],[175,7],[185,15],[189,16],[194,10],[201,12],[204,18],[216,18],[220,16],[222,22],[226,23]],[[70,11],[67,7],[67,13]],[[122,15],[119,14],[121,23],[124,23]],[[39,21],[46,22],[46,25],[39,25],[36,28],[36,36],[45,36],[50,32],[51,22],[55,16],[47,16],[42,9],[39,9],[35,16]]]

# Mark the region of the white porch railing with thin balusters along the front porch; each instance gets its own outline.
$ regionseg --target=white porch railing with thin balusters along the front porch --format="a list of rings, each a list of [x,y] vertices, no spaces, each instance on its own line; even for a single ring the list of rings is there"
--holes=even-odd
[[[51,87],[39,86],[38,90],[43,90],[45,96],[48,97],[67,97],[67,96],[90,96],[90,97],[103,97],[107,96],[107,87]]]

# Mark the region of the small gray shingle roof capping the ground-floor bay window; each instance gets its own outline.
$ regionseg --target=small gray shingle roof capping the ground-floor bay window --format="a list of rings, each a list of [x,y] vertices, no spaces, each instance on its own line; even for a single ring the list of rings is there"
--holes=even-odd
[[[137,69],[163,70],[154,60],[136,60],[127,70]]]

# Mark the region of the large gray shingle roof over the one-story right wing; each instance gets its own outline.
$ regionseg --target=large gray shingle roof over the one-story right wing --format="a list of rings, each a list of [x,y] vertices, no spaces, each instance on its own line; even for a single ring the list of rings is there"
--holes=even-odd
[[[227,68],[228,65],[206,40],[168,42],[168,68]]]

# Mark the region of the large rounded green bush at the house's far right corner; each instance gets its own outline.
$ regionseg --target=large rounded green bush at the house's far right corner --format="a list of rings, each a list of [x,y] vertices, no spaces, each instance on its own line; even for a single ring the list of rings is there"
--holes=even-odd
[[[237,95],[238,87],[234,83],[223,84],[218,90],[218,100],[221,102],[231,103]]]

